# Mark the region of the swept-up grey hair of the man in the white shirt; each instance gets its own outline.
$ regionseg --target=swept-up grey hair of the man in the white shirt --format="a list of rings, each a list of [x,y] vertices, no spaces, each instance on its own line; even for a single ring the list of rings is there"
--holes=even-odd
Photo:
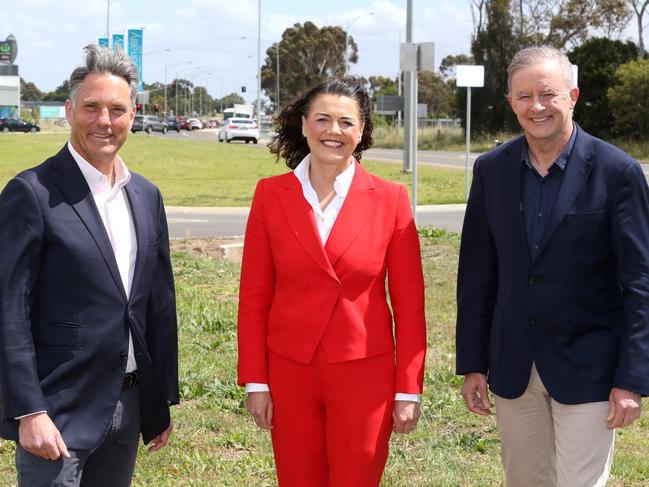
[[[137,67],[123,50],[112,50],[88,44],[83,48],[86,52],[85,66],[79,66],[70,75],[70,100],[74,104],[86,76],[89,74],[112,74],[128,83],[131,90],[131,105],[137,98],[138,74]]]

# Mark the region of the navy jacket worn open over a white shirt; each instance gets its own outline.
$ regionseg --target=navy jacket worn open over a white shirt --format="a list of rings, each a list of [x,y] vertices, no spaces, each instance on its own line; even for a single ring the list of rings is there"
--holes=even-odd
[[[106,430],[133,337],[145,442],[178,402],[176,305],[167,223],[155,186],[125,186],[137,238],[126,296],[92,193],[67,147],[0,195],[0,436],[46,410],[68,448]]]

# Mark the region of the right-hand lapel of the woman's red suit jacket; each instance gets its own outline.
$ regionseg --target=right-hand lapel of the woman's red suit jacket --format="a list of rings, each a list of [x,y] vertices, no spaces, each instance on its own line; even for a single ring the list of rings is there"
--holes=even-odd
[[[355,162],[354,178],[336,217],[325,250],[332,266],[363,229],[385,190],[377,188],[363,167]]]

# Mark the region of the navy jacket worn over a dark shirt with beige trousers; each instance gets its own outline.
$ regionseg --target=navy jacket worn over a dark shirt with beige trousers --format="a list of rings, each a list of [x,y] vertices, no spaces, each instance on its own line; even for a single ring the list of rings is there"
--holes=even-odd
[[[565,404],[649,394],[649,199],[640,166],[580,128],[538,256],[521,213],[515,139],[481,156],[458,274],[457,372],[520,396],[532,361]]]

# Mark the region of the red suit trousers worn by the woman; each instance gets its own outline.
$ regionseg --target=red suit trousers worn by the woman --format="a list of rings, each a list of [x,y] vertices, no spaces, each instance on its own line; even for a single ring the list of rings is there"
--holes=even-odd
[[[309,364],[272,351],[273,450],[281,487],[377,487],[388,457],[394,355]]]

